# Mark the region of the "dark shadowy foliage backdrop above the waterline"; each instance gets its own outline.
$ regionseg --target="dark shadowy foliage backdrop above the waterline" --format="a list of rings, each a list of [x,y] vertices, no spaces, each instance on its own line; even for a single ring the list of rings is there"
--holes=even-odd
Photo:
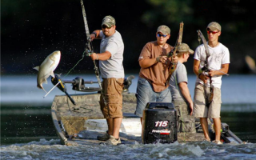
[[[182,42],[195,50],[196,30],[206,36],[210,22],[222,25],[220,42],[230,50],[230,74],[250,73],[246,55],[256,59],[256,6],[254,0],[91,0],[84,1],[90,32],[101,28],[102,18],[112,15],[125,43],[125,70],[139,70],[138,55],[146,42],[155,40],[158,26],[170,26],[174,45],[179,22],[184,22]],[[94,42],[98,52],[99,42]],[[85,27],[79,0],[2,0],[1,1],[1,74],[35,74],[54,50],[62,51],[57,73],[66,74],[82,58],[86,43]],[[189,74],[193,58],[186,62]],[[73,74],[93,70],[86,57]]]

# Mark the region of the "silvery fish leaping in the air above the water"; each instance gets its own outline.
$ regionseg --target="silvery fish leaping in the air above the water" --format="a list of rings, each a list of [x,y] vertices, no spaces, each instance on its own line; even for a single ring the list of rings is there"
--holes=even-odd
[[[35,70],[38,70],[38,78],[37,78],[38,88],[45,90],[42,87],[42,83],[47,84],[46,79],[50,75],[55,78],[54,70],[58,66],[60,59],[61,59],[61,52],[59,50],[56,50],[52,54],[48,55],[47,58],[42,62],[40,66],[34,67]]]

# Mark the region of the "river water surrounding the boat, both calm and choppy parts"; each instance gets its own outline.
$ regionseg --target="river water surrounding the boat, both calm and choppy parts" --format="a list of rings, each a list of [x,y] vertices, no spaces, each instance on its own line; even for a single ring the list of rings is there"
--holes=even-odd
[[[127,76],[130,74],[127,74]],[[130,86],[136,91],[138,74]],[[80,75],[97,81],[94,75]],[[74,79],[69,75],[63,79]],[[53,85],[48,79],[46,91]],[[189,75],[193,97],[195,76]],[[69,94],[78,94],[66,84]],[[98,84],[88,85],[98,86]],[[256,75],[222,78],[222,122],[246,144],[215,145],[211,142],[173,144],[141,143],[120,146],[62,146],[50,117],[55,88],[46,93],[36,87],[36,75],[1,77],[1,159],[256,159]]]

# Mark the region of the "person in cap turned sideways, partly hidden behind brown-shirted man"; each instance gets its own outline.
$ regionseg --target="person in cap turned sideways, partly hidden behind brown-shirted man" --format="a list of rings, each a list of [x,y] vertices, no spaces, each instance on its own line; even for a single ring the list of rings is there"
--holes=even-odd
[[[186,66],[183,64],[183,62],[187,62],[190,54],[194,54],[194,51],[190,50],[190,47],[186,43],[181,43],[177,46],[176,54],[178,63],[176,70],[174,70],[174,73],[170,77],[170,92],[172,102],[178,113],[178,131],[195,133],[194,116],[191,116],[193,101],[190,97],[190,90],[187,87]]]

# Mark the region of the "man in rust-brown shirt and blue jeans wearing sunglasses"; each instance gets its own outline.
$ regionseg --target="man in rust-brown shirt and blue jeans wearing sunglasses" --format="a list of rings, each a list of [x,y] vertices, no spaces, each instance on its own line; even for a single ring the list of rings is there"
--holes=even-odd
[[[135,113],[141,118],[147,102],[171,102],[168,67],[171,58],[167,58],[173,46],[166,41],[170,38],[170,28],[162,25],[156,32],[157,40],[148,42],[139,55],[138,62],[141,66],[137,86],[137,106]]]

